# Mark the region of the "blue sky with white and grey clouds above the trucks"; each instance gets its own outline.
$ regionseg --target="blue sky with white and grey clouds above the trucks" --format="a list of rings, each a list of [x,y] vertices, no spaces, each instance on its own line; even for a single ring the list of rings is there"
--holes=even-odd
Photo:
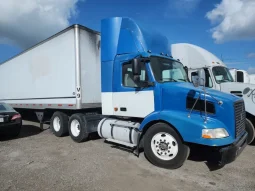
[[[255,74],[255,0],[8,0],[0,10],[0,63],[69,25],[100,31],[121,16]]]

